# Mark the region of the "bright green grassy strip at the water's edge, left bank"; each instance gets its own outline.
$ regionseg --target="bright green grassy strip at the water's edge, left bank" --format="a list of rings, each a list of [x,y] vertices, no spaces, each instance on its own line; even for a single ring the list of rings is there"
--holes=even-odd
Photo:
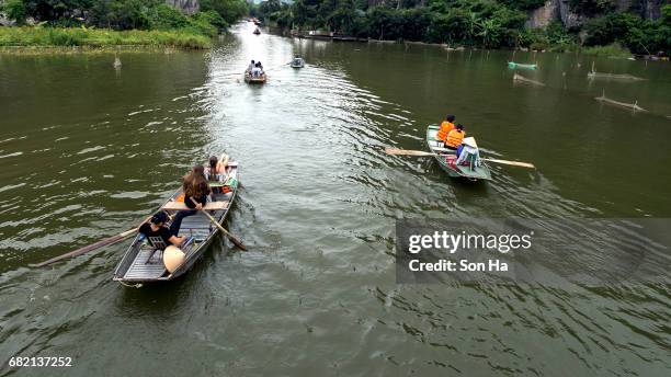
[[[0,46],[153,46],[209,48],[211,37],[189,30],[113,31],[83,27],[0,27]]]

